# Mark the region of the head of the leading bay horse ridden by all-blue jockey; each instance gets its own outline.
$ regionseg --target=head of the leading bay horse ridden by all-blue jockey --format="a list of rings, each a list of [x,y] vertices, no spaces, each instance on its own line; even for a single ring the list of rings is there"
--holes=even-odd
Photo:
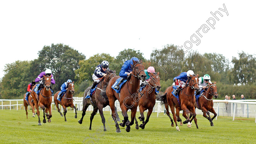
[[[133,65],[132,65],[132,68],[133,68],[133,75],[142,80],[143,82],[146,80],[146,74],[144,72],[144,65],[142,64],[142,60],[140,59],[140,61],[134,61],[133,60]]]

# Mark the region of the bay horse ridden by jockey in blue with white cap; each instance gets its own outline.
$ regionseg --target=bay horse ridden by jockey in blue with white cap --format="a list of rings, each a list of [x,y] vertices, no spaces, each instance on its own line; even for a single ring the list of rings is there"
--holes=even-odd
[[[199,91],[198,82],[199,82],[198,74],[197,74],[197,76],[196,75],[193,75],[193,76],[190,75],[190,77],[188,78],[188,80],[185,84],[186,86],[183,88],[183,90],[180,91],[180,95],[179,95],[179,101],[180,102],[178,102],[177,98],[172,95],[172,91],[173,91],[172,86],[168,87],[165,90],[165,94],[163,96],[160,96],[161,104],[165,104],[166,114],[169,116],[169,118],[172,122],[171,126],[173,127],[174,124],[173,124],[172,118],[170,117],[168,105],[171,108],[173,120],[176,124],[176,130],[177,131],[180,131],[180,129],[179,129],[176,121],[179,121],[180,125],[182,125],[182,121],[180,119],[180,111],[181,110],[185,111],[183,114],[188,115],[187,120],[186,120],[186,121],[188,121],[187,127],[189,127],[189,128],[191,127],[190,122],[193,119],[194,119],[195,124],[197,126],[197,119],[196,119],[196,113],[195,113],[195,107],[194,107],[194,105],[195,105],[194,91],[196,91],[196,92]],[[174,107],[176,108],[176,114],[175,114]],[[192,119],[189,118],[190,111],[193,114]],[[198,128],[198,126],[197,126],[197,128]]]

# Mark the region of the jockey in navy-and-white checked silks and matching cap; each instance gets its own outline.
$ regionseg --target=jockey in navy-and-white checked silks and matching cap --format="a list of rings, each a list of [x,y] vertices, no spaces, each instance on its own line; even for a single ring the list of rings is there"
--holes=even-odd
[[[100,82],[100,78],[102,78],[103,76],[104,77],[107,76],[106,70],[108,69],[108,66],[109,66],[108,61],[102,61],[100,65],[97,65],[97,67],[95,68],[94,73],[92,75],[92,79],[93,79],[94,82],[91,85],[91,88],[87,93],[88,96],[90,96],[91,89],[94,89],[95,86],[97,85],[97,83]]]

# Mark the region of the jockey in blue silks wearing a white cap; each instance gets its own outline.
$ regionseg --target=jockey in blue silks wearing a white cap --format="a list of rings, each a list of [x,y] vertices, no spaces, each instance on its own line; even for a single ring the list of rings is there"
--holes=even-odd
[[[190,77],[190,75],[194,75],[194,72],[192,70],[188,70],[187,72],[182,72],[180,73],[179,76],[176,76],[173,78],[173,81],[175,82],[175,85],[181,85],[178,88],[182,88],[185,86],[188,77]],[[174,94],[177,95],[178,93],[178,89],[174,90]]]

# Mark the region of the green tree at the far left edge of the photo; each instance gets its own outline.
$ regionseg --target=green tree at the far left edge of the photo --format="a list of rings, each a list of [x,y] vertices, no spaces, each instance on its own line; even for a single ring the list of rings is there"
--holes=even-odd
[[[27,86],[33,81],[28,76],[30,61],[15,61],[5,65],[5,75],[1,82],[1,97],[11,99],[22,97],[27,92]]]

